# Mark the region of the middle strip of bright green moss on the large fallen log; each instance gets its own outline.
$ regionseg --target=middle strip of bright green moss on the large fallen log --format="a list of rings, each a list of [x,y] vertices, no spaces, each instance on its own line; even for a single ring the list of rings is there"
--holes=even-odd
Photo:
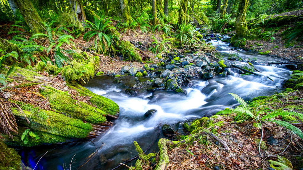
[[[87,103],[74,100],[67,92],[45,87],[41,94],[48,97],[52,109],[56,112],[65,112],[73,118],[85,120],[90,123],[102,123],[106,121],[107,113]]]

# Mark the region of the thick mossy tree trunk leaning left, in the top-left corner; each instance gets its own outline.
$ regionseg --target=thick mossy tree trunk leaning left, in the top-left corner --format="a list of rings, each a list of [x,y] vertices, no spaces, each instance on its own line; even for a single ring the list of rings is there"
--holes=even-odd
[[[19,8],[26,24],[32,30],[32,33],[42,33],[45,31],[41,23],[42,19],[30,0],[14,0],[14,2]]]

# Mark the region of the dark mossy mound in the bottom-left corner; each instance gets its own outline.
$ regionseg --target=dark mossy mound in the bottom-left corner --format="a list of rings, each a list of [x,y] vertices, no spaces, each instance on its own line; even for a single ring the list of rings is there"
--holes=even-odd
[[[0,170],[18,170],[20,168],[21,157],[15,149],[8,148],[0,140]]]

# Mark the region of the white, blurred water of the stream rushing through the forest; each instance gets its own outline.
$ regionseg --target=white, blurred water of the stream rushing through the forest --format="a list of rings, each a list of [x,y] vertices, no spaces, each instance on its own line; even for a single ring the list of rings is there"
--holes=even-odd
[[[232,47],[222,41],[212,41],[212,43],[225,56],[233,52],[238,53],[239,57],[243,59],[250,58],[258,62],[281,61],[274,57],[248,51],[232,51]],[[235,63],[247,64],[238,61]],[[92,141],[23,150],[22,159],[26,165],[34,167],[38,159],[48,151],[36,169],[68,169],[72,161],[74,167],[72,169],[82,166],[79,169],[107,170],[138,154],[133,141],[137,141],[143,150],[149,148],[148,152],[157,152],[158,139],[164,137],[161,134],[161,126],[164,123],[173,124],[173,127],[180,132],[182,129],[177,127],[179,121],[211,116],[217,111],[237,103],[227,93],[236,93],[245,100],[256,96],[272,95],[281,91],[281,84],[291,74],[283,65],[254,66],[262,72],[260,73],[262,76],[241,75],[238,74],[237,69],[229,68],[231,75],[228,77],[216,76],[206,81],[193,80],[190,87],[184,88],[187,92],[186,95],[167,91],[154,93],[141,91],[136,96],[128,96],[124,92],[126,87],[113,83],[112,78],[101,77],[90,80],[86,86],[89,90],[108,97],[120,107],[120,116],[114,121],[112,128]],[[267,77],[271,77],[274,81]],[[144,113],[150,109],[156,109],[158,112],[145,118]],[[96,149],[98,149],[98,153],[93,156]],[[132,163],[134,164],[134,162]]]

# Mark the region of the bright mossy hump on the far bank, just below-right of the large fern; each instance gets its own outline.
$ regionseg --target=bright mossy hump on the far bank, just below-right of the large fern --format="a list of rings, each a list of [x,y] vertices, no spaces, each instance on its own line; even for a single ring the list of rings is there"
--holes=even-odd
[[[129,41],[120,41],[119,50],[123,54],[125,60],[142,62],[142,57],[138,53],[138,49]]]

